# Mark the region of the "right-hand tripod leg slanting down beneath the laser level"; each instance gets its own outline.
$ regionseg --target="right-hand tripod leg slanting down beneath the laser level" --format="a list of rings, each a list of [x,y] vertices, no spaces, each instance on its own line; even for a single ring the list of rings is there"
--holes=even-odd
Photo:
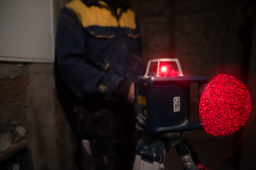
[[[181,162],[186,170],[198,170],[196,164],[193,162],[190,152],[186,143],[181,142],[176,146],[178,157],[181,157]]]

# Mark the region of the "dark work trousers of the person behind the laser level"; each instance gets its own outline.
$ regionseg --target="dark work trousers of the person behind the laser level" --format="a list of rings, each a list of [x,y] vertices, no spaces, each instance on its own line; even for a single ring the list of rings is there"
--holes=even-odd
[[[127,106],[118,105],[113,108],[95,105],[89,108],[76,108],[79,117],[79,170],[132,169],[137,144],[135,117],[132,108],[125,107]],[[82,139],[90,141],[91,156],[82,147]]]

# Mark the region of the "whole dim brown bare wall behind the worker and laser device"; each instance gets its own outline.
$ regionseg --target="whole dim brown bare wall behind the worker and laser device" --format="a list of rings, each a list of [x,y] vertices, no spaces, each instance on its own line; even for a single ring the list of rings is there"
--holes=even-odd
[[[65,2],[55,1],[56,11]],[[238,36],[239,30],[246,28],[242,13],[246,1],[131,2],[142,28],[144,60],[177,57],[185,74],[201,74],[209,79],[224,72],[240,79],[247,75],[255,106],[255,44],[245,75],[245,47]],[[202,130],[185,132],[184,137],[209,169],[235,169],[238,163],[240,169],[252,169],[256,160],[255,121],[253,118],[248,130],[245,128],[242,145],[236,147],[240,149],[231,154],[239,134],[211,137]],[[55,95],[53,64],[0,62],[0,134],[16,132],[17,128],[23,131],[18,131],[16,141],[28,139],[34,169],[73,169],[75,140]],[[15,141],[8,139],[6,146]],[[166,169],[182,169],[175,152],[171,148],[167,154]],[[230,157],[223,161],[227,155]]]

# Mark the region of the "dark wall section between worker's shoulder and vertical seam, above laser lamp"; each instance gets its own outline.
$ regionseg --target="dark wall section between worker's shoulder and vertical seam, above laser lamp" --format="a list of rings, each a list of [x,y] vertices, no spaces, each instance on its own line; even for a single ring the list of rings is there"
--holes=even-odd
[[[132,8],[142,30],[143,57],[145,62],[153,58],[174,56],[174,17],[176,1],[132,1]]]

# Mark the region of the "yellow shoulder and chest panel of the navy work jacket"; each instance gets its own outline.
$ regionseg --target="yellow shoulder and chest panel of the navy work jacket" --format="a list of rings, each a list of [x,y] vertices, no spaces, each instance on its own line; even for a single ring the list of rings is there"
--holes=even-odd
[[[114,16],[109,8],[86,6],[81,0],[70,1],[66,7],[75,12],[83,27],[118,27],[117,17]],[[119,18],[119,26],[136,29],[135,14],[132,10],[128,9],[122,13]]]

